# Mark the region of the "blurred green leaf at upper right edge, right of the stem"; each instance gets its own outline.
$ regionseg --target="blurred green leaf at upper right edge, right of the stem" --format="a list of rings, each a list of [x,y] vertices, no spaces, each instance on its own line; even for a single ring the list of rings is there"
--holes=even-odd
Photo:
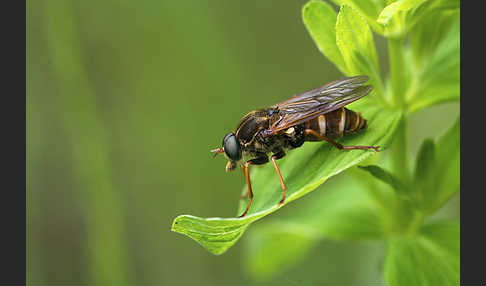
[[[455,18],[451,29],[430,55],[407,98],[411,112],[460,98],[460,21]]]

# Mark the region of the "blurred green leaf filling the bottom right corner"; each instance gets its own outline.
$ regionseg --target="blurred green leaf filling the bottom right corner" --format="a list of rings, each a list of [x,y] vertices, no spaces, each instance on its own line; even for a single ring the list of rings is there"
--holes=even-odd
[[[436,222],[422,226],[414,237],[389,240],[387,285],[459,285],[459,231],[459,222]]]

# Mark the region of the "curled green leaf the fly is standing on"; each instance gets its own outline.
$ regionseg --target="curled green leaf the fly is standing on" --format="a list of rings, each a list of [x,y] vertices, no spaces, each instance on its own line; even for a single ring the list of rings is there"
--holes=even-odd
[[[378,145],[381,150],[388,147],[394,130],[402,116],[401,112],[383,109],[369,98],[352,104],[352,110],[362,113],[368,120],[365,132],[339,140],[343,145]],[[341,151],[323,142],[308,142],[278,161],[287,185],[286,204],[313,191],[328,178],[358,164],[373,155],[374,151]],[[221,254],[231,247],[246,228],[254,221],[275,212],[280,207],[282,189],[271,164],[255,166],[251,170],[254,192],[252,205],[243,218],[198,218],[178,216],[172,230],[183,233],[214,254]],[[246,187],[243,188],[246,192]],[[247,201],[242,200],[237,214],[243,213]]]

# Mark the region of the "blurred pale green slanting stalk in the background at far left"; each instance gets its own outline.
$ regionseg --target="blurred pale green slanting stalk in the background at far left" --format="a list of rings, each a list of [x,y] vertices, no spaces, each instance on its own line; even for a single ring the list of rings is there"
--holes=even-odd
[[[76,182],[65,191],[82,202],[85,212],[84,245],[80,246],[86,251],[85,283],[130,285],[133,265],[124,235],[125,213],[113,182],[109,139],[87,70],[89,61],[76,21],[76,5],[52,0],[43,1],[43,5],[43,33],[50,52],[50,72],[55,78],[50,84],[58,89],[58,94],[49,96],[55,100],[57,120],[68,138]]]

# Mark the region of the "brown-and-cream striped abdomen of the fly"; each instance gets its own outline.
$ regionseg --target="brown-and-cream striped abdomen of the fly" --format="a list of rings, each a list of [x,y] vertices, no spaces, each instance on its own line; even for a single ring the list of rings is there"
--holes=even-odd
[[[366,128],[366,119],[361,114],[347,108],[340,108],[307,121],[305,128],[312,129],[328,138],[339,138]],[[306,141],[320,141],[312,135]]]

